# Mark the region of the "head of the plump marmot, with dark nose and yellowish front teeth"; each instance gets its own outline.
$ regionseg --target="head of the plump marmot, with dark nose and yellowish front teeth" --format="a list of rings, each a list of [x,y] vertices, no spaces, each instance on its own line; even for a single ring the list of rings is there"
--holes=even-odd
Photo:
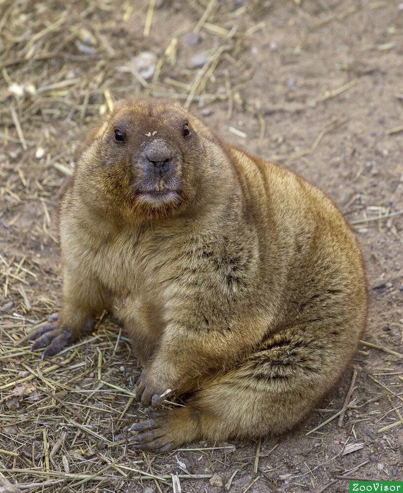
[[[225,152],[208,128],[176,102],[118,103],[77,164],[83,200],[101,212],[177,215],[217,187]]]

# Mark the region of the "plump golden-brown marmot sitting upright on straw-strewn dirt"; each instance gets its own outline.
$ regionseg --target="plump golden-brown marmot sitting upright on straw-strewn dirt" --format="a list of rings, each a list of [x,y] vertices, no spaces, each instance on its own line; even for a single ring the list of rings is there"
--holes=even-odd
[[[144,365],[132,426],[163,452],[281,433],[353,358],[367,291],[360,248],[301,176],[217,139],[176,102],[118,104],[62,204],[63,306],[33,349],[59,352],[112,309]]]

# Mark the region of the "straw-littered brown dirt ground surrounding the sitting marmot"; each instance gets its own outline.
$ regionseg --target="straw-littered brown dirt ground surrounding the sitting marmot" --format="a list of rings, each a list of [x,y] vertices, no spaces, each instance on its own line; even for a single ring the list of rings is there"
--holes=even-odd
[[[402,56],[395,0],[0,0],[0,475],[34,493],[176,492],[172,474],[197,493],[403,480]],[[29,351],[61,304],[60,187],[100,113],[136,94],[190,104],[354,225],[375,347],[292,433],[131,451],[140,368],[118,326],[51,361]]]

